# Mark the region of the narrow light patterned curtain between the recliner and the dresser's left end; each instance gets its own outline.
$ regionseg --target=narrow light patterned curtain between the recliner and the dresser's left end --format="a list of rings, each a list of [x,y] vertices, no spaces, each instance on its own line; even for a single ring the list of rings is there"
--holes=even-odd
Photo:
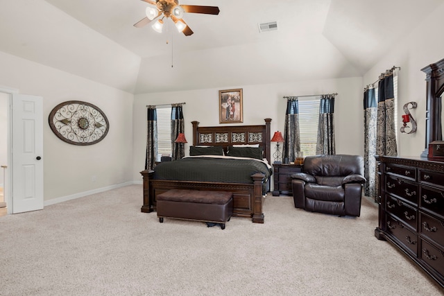
[[[375,88],[364,89],[364,195],[376,198],[376,119]]]

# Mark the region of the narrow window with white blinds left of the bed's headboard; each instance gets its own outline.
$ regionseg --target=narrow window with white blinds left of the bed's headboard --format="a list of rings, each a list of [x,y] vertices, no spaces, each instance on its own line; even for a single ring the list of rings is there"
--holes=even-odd
[[[157,162],[171,153],[171,106],[157,107]]]

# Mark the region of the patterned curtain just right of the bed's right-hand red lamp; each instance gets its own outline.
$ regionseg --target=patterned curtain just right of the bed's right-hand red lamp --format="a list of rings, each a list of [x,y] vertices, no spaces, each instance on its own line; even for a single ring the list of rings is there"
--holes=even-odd
[[[293,162],[298,151],[300,151],[298,98],[296,96],[290,96],[287,99],[287,112],[285,114],[284,128],[284,148],[282,155],[284,159],[287,158],[289,162]]]

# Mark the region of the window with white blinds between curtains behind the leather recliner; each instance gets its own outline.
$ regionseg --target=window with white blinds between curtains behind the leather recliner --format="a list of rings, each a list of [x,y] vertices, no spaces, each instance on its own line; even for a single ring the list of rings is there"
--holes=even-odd
[[[318,138],[319,99],[299,98],[300,150],[304,156],[316,155]]]

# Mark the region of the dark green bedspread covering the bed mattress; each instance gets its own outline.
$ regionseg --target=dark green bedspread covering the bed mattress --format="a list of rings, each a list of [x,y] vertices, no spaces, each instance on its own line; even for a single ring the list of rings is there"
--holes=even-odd
[[[249,184],[255,173],[264,174],[266,181],[272,171],[256,159],[185,157],[157,164],[153,179]]]

